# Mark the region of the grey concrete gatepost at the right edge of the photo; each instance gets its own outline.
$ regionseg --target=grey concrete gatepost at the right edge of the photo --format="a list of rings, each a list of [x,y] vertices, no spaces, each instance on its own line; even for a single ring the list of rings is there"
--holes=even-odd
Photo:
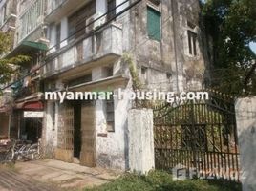
[[[256,191],[256,96],[236,101],[243,191]]]

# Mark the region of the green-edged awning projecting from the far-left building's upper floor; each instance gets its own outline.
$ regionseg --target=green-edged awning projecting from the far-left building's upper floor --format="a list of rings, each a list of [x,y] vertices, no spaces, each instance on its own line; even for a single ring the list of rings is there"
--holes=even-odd
[[[15,47],[11,53],[8,53],[5,58],[11,58],[16,55],[33,55],[39,51],[47,51],[48,47],[44,43],[32,42],[32,41],[22,41],[17,47]]]

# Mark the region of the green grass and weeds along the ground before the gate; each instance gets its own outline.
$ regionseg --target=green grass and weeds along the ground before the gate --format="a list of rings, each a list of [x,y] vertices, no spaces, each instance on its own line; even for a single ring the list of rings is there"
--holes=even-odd
[[[173,181],[162,171],[151,171],[148,176],[126,174],[113,182],[85,191],[240,191],[241,184],[222,180]]]

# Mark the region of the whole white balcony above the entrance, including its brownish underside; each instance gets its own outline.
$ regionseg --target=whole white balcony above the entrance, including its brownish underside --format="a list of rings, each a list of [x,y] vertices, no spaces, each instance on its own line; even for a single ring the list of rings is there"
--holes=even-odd
[[[112,63],[121,55],[122,29],[113,23],[94,35],[82,40],[76,39],[73,45],[49,54],[43,75],[77,76],[83,74],[88,67]]]

